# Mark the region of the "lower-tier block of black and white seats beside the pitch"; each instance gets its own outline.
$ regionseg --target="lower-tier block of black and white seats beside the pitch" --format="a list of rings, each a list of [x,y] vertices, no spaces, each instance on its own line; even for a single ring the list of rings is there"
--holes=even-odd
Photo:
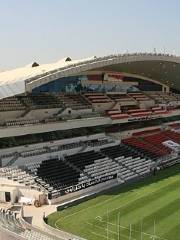
[[[152,160],[123,144],[79,152],[33,164],[36,182],[49,199],[117,178],[124,183],[148,174]]]

